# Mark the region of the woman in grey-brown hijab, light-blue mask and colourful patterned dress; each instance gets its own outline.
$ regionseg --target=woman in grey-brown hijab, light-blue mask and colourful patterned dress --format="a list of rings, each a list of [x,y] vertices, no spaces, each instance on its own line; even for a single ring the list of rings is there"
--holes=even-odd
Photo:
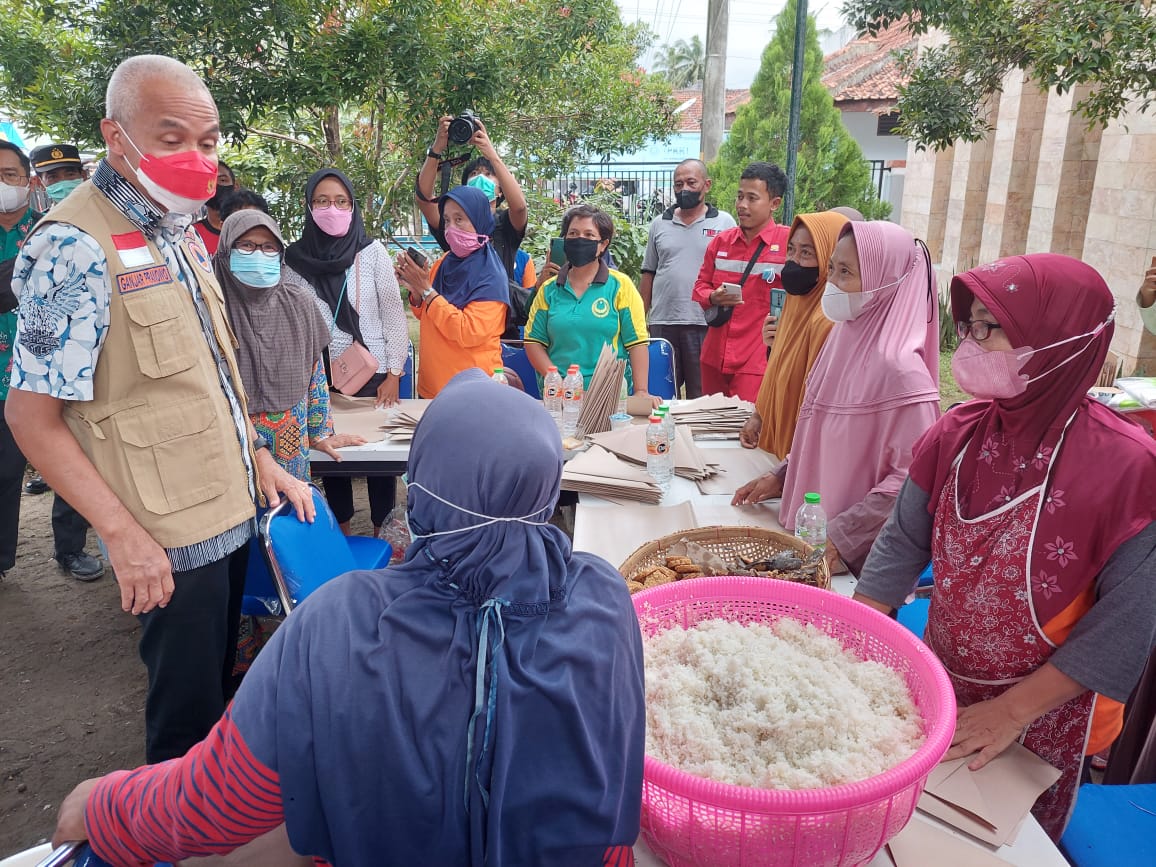
[[[321,363],[329,329],[309,286],[283,259],[273,217],[239,210],[221,227],[213,267],[239,343],[249,417],[277,464],[307,482],[310,449],[341,460],[338,449],[364,440],[333,432]]]

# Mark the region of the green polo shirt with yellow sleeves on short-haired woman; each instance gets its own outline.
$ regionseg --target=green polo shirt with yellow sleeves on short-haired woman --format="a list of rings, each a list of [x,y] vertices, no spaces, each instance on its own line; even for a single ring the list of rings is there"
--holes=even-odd
[[[594,282],[579,298],[565,283],[568,272],[569,267],[563,268],[534,296],[526,341],[544,346],[562,376],[577,364],[588,386],[603,346],[629,361],[627,350],[650,340],[646,313],[642,296],[625,274],[600,265]],[[627,381],[630,384],[629,365]]]

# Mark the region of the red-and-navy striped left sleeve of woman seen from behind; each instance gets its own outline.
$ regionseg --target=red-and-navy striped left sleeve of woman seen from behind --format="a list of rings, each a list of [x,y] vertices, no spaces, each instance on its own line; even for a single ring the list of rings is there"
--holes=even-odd
[[[110,773],[84,810],[96,854],[142,867],[225,854],[282,822],[280,779],[242,739],[231,709],[181,758]]]

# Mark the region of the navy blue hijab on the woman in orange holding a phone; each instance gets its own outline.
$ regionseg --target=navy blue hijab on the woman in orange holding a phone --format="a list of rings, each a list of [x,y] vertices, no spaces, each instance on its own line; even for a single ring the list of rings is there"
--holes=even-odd
[[[479,235],[484,235],[487,240],[480,250],[475,250],[466,258],[455,255],[452,251],[446,253],[433,277],[433,288],[459,309],[474,301],[499,301],[509,305],[510,276],[502,264],[502,257],[489,242],[489,236],[494,234],[494,212],[490,209],[490,200],[476,187],[455,186],[438,200],[443,229],[445,203],[450,200],[461,206],[474,229]]]

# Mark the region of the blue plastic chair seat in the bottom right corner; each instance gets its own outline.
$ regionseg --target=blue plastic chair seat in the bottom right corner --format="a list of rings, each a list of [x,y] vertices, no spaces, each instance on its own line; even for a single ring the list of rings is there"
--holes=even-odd
[[[1156,784],[1080,786],[1060,849],[1075,867],[1132,867],[1153,864],[1156,840]]]

